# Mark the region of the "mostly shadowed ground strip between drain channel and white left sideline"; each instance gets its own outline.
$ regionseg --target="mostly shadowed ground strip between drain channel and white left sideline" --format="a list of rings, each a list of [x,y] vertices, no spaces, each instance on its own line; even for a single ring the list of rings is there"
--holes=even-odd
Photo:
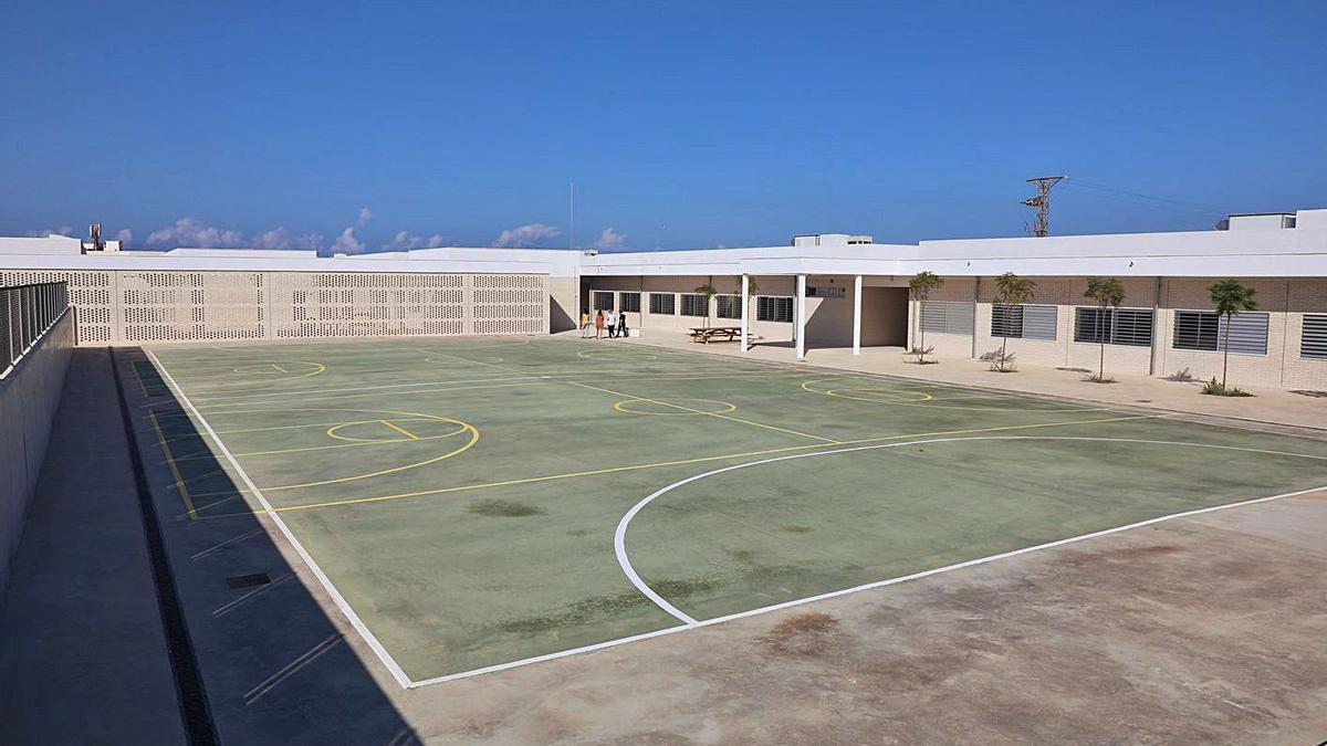
[[[401,686],[272,519],[252,512],[188,406],[141,348],[114,360],[220,741],[418,742],[389,694]]]

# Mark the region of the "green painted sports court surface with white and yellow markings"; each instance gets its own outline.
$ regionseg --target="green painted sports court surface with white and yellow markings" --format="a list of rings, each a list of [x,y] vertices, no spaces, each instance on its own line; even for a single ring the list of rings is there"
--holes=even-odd
[[[415,680],[678,624],[626,579],[614,528],[740,463],[844,451],[637,515],[636,569],[695,619],[1327,485],[1327,442],[606,340],[155,354]],[[260,508],[195,418],[158,410],[182,514]],[[914,442],[937,438],[963,439]]]

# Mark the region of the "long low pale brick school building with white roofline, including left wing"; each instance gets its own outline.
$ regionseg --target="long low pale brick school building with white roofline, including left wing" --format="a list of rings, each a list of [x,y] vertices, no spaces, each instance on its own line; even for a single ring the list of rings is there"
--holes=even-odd
[[[925,308],[921,271],[945,284]],[[993,303],[994,277],[1036,283],[1031,303]],[[1089,276],[1127,296],[1104,313]],[[1235,277],[1259,309],[1230,328],[1208,287]],[[1023,365],[1327,389],[1327,210],[1231,215],[1212,231],[926,240],[795,236],[790,246],[594,254],[427,248],[356,256],[312,251],[118,251],[73,238],[0,239],[0,285],[66,281],[80,344],[165,344],[569,331],[583,309],[626,312],[649,337],[747,329],[790,358],[823,348],[914,345],[978,357],[1002,336]],[[709,287],[715,292],[698,292]],[[743,344],[743,342],[734,342]]]

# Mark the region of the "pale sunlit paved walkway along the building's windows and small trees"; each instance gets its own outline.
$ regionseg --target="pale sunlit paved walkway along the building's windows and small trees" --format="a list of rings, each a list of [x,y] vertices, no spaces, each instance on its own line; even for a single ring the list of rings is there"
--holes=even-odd
[[[621,344],[604,340],[602,344]],[[642,332],[629,344],[645,344],[685,349],[698,353],[740,356],[736,342],[699,345],[689,341],[681,333]],[[987,364],[979,360],[940,357],[937,365],[917,365],[904,362],[902,348],[863,348],[860,356],[849,348],[812,349],[807,352],[804,365],[835,368],[840,370],[861,370],[905,378],[918,378],[963,386],[982,386],[1009,392],[1067,397],[1101,404],[1147,406],[1168,411],[1184,411],[1206,417],[1247,419],[1294,427],[1310,427],[1327,431],[1327,398],[1314,398],[1295,394],[1285,389],[1246,386],[1255,394],[1249,398],[1209,397],[1200,392],[1200,382],[1176,382],[1152,376],[1111,373],[1115,384],[1092,384],[1083,380],[1083,373],[1058,368],[1019,364],[1016,373],[993,373]],[[756,345],[746,353],[755,360],[796,362],[792,348],[779,345]],[[1239,381],[1231,381],[1239,385]],[[1327,388],[1327,381],[1323,382]]]

